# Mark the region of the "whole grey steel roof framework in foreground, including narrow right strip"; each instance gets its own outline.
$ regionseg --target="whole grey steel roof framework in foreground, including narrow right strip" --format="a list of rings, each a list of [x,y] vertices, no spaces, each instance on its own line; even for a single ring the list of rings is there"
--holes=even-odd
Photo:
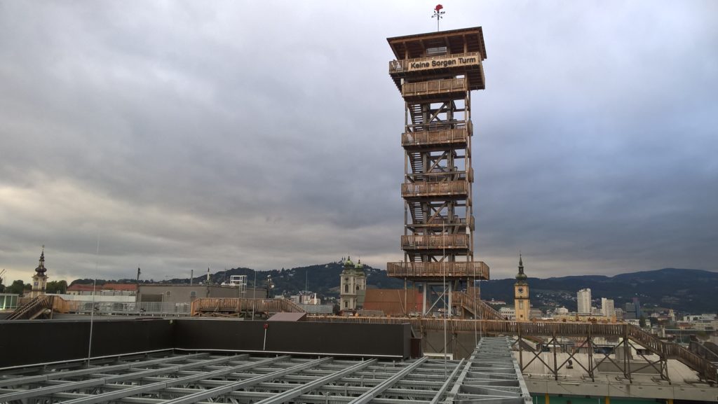
[[[446,362],[171,350],[0,371],[0,403],[455,402],[531,403],[506,338]]]

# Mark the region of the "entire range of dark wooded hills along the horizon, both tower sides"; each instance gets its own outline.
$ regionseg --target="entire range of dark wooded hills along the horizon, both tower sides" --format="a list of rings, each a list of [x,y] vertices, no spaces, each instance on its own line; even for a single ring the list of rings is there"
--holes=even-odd
[[[271,276],[275,294],[296,294],[304,290],[305,282],[309,291],[322,296],[339,296],[340,262],[304,266],[291,269],[257,271],[257,285],[264,287],[266,277]],[[370,288],[403,288],[401,279],[388,278],[386,271],[365,267],[367,284]],[[210,274],[213,283],[222,283],[233,275],[246,275],[249,285],[254,282],[255,271],[251,268],[233,268]],[[205,281],[206,274],[195,277],[194,282]],[[78,279],[73,283],[92,283],[91,279]],[[107,281],[98,280],[98,285]],[[134,283],[134,280],[118,282]],[[143,281],[141,281],[143,282]],[[148,282],[148,281],[144,281]],[[174,278],[159,283],[190,283],[189,278]],[[482,299],[513,302],[514,279],[498,279],[481,283]],[[71,283],[72,284],[72,283]],[[634,296],[640,299],[644,308],[674,309],[681,313],[718,312],[718,273],[695,269],[665,268],[657,271],[623,273],[616,276],[563,276],[560,278],[528,278],[531,286],[531,304],[541,309],[565,306],[576,310],[576,292],[590,288],[594,306],[600,307],[600,298],[615,301],[623,308]]]

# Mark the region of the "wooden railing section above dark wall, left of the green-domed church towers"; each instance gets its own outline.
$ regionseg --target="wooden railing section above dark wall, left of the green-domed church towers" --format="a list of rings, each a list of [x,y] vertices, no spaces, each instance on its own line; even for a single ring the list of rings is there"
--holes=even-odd
[[[192,301],[191,309],[192,316],[246,311],[255,311],[256,313],[306,312],[289,299],[201,298]]]

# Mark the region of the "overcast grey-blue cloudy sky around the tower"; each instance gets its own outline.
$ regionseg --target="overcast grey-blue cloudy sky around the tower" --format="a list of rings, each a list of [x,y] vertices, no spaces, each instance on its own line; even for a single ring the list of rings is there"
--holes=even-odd
[[[29,282],[403,258],[386,37],[436,1],[0,0],[0,268]],[[718,270],[716,1],[444,2],[483,27],[492,278]],[[98,250],[99,241],[99,254]]]

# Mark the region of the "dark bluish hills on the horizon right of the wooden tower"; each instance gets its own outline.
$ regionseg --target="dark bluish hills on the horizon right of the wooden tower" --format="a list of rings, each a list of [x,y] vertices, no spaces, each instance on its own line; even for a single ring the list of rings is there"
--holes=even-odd
[[[513,302],[514,279],[481,283],[482,299]],[[616,276],[563,276],[561,278],[528,278],[531,303],[545,309],[566,306],[576,310],[576,292],[590,288],[594,306],[600,298],[613,299],[623,308],[638,297],[644,308],[674,309],[683,313],[718,312],[718,273],[696,269],[664,268],[656,271],[622,273]]]

